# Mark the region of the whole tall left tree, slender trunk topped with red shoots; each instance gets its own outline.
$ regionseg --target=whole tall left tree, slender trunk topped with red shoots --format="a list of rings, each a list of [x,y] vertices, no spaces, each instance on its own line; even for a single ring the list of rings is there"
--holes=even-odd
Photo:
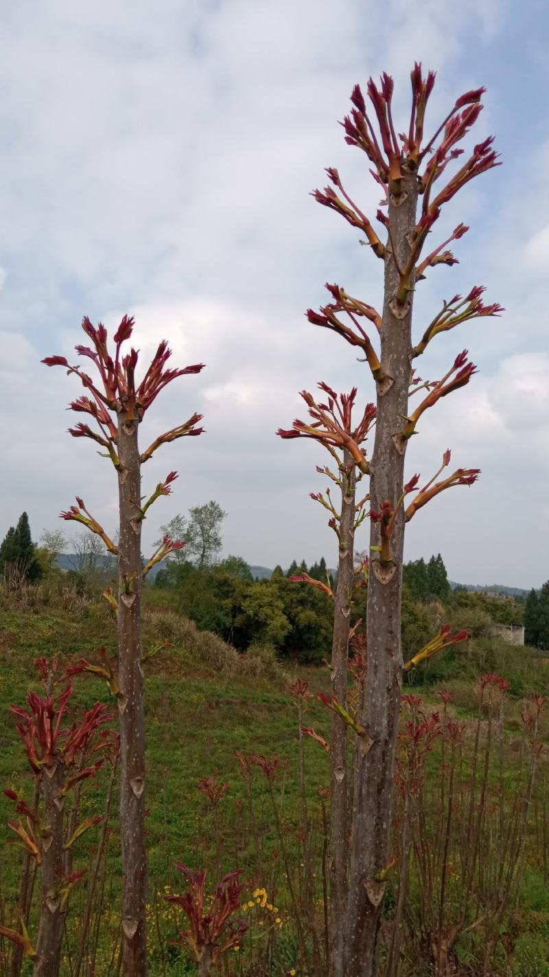
[[[126,355],[122,348],[132,336],[134,319],[125,316],[116,330],[113,354],[109,352],[107,331],[99,323],[97,328],[85,318],[82,328],[92,347],[77,346],[79,356],[95,364],[98,377],[93,379],[79,365],[71,365],[64,357],[47,357],[48,366],[63,366],[67,374],[77,376],[86,394],[70,404],[70,408],[89,414],[97,428],[80,422],[69,433],[74,438],[89,438],[112,462],[118,477],[119,531],[115,543],[104,531],[82,498],[77,505],[61,513],[65,520],[86,526],[102,539],[109,553],[118,561],[118,594],[107,591],[106,598],[118,617],[118,680],[117,699],[120,713],[120,826],[124,866],[124,894],[122,907],[123,964],[127,977],[146,974],[146,848],[144,829],[145,743],[143,722],[143,657],[141,651],[141,582],[144,576],[165,557],[184,546],[182,540],[165,535],[156,551],[141,565],[141,525],[150,506],[162,495],[169,495],[176,480],[170,472],[151,495],[141,495],[141,465],[162,445],[179,438],[202,434],[200,414],[155,438],[141,450],[138,427],[143,415],[158,395],[176,377],[199,373],[204,364],[196,363],[183,369],[167,365],[171,350],[163,340],[152,361],[137,381],[137,350]]]

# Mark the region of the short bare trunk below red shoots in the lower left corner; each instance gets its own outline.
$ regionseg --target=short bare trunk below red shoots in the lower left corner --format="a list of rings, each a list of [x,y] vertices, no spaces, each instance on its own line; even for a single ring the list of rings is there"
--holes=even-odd
[[[42,839],[42,897],[40,925],[36,944],[34,977],[58,977],[61,943],[64,930],[64,911],[61,910],[59,883],[63,868],[63,787],[62,764],[54,761],[45,767],[42,778],[44,824],[47,834]],[[58,803],[56,803],[58,801]]]

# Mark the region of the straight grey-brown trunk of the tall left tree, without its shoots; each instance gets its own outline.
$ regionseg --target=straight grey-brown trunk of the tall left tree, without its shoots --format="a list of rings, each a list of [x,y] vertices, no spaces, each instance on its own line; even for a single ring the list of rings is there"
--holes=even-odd
[[[146,974],[145,750],[141,670],[141,477],[137,420],[118,418],[120,590],[118,654],[120,709],[120,828],[124,867],[123,964],[127,977]]]

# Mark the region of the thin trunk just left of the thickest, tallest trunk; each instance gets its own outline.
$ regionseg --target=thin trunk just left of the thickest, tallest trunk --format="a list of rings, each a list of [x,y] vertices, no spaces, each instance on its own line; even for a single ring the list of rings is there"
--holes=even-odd
[[[347,706],[347,657],[354,578],[356,470],[350,451],[343,451],[339,562],[333,606],[332,694]],[[349,851],[347,724],[333,713],[330,738],[330,977],[345,977],[345,904]]]

